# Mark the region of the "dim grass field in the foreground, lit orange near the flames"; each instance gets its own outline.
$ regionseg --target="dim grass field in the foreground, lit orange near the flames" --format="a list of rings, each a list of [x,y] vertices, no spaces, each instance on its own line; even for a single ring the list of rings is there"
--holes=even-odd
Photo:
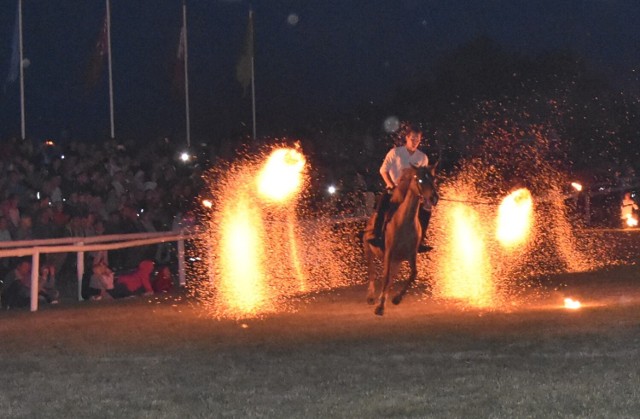
[[[5,311],[0,416],[637,417],[639,281],[563,275],[507,311],[418,289],[384,318],[364,286],[246,321],[182,297]]]

